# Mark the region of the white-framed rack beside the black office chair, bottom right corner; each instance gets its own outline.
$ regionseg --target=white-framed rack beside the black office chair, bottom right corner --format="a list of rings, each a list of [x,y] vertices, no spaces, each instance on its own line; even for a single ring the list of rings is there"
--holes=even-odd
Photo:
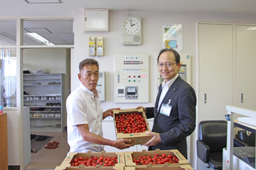
[[[247,131],[251,131],[252,133],[255,133],[256,126],[251,126],[247,123],[239,123],[234,122],[234,113],[238,113],[240,115],[249,116],[251,118],[256,118],[256,111],[255,110],[249,110],[244,108],[238,108],[231,105],[226,105],[226,110],[228,112],[228,115],[230,117],[230,121],[228,121],[228,133],[226,136],[226,151],[224,150],[224,156],[223,156],[223,168],[227,170],[235,170],[235,169],[247,169],[252,170],[255,169],[254,167],[250,166],[249,164],[242,161],[242,159],[239,159],[237,156],[234,156],[234,126],[237,126],[239,128],[244,128]],[[255,156],[255,155],[254,155]],[[256,161],[256,159],[255,159]]]

